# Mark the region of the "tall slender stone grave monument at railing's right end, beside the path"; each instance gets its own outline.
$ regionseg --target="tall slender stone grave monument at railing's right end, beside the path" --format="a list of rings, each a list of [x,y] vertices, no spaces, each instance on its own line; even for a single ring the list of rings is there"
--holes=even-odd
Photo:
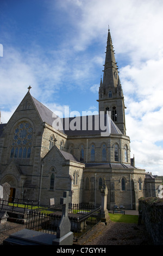
[[[104,185],[101,188],[101,221],[105,222],[105,224],[110,221],[110,217],[107,209],[107,196],[108,196],[108,187],[104,182]]]

